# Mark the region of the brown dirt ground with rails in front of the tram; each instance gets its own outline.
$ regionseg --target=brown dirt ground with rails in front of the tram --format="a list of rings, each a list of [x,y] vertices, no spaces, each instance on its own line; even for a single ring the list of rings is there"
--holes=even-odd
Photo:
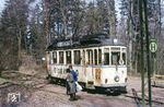
[[[5,72],[3,78],[10,81],[0,86],[0,107],[141,107],[137,106],[133,98],[126,97],[125,94],[114,96],[79,92],[78,100],[70,102],[66,87],[49,84],[42,73],[31,75],[13,72],[9,75]],[[131,88],[136,88],[140,95],[140,83],[139,78],[129,78],[126,95],[132,95]],[[157,96],[162,100],[164,88],[153,87],[152,90],[153,97]],[[20,99],[11,102],[9,94],[12,93],[20,94]],[[164,105],[153,104],[153,107],[164,107]]]

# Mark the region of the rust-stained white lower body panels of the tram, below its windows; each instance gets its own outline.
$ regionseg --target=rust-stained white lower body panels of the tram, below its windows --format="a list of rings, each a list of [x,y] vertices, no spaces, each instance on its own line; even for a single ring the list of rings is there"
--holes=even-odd
[[[67,66],[62,64],[48,64],[48,72],[54,79],[66,79],[66,69]],[[73,66],[73,69],[78,72],[78,79],[80,83],[86,84],[86,88],[90,87],[104,87],[106,90],[114,88],[119,90],[125,87],[127,80],[127,68],[118,67],[82,67]],[[117,78],[117,79],[116,79]]]

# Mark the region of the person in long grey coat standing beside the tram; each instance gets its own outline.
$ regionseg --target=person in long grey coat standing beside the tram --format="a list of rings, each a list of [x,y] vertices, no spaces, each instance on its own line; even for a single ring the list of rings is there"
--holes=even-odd
[[[75,93],[77,93],[77,90],[75,90],[75,81],[73,79],[73,74],[71,73],[71,70],[70,69],[67,69],[67,94],[70,95],[70,100],[77,100],[75,98]]]

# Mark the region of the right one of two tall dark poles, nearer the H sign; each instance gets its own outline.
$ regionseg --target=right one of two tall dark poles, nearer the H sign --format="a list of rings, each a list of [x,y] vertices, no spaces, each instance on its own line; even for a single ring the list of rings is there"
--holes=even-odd
[[[149,49],[149,26],[148,26],[148,11],[147,11],[147,0],[143,0],[143,8],[144,8],[144,21],[145,21],[145,39],[147,39],[147,68],[148,68],[148,87],[149,87],[149,105],[152,107],[152,95],[151,95],[151,69],[150,69],[150,49]]]

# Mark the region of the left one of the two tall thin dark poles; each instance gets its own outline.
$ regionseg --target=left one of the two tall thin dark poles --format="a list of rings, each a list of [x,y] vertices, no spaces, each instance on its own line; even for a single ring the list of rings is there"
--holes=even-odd
[[[143,63],[144,63],[144,57],[143,57],[143,2],[142,0],[139,0],[139,14],[140,14],[140,45],[141,45],[141,86],[142,86],[142,107],[145,106],[144,103],[144,69],[143,69]]]

